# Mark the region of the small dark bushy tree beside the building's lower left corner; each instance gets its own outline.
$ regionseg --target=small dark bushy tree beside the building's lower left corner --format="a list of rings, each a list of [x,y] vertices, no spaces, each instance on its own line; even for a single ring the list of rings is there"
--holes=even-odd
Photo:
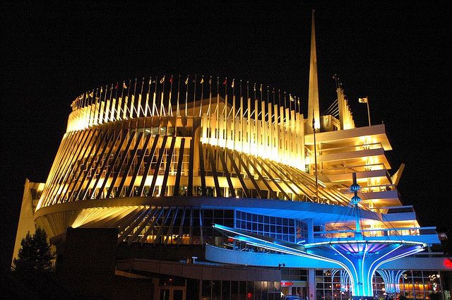
[[[45,230],[38,227],[35,234],[30,232],[20,241],[18,258],[14,258],[16,271],[45,272],[52,268],[54,254],[50,251]]]

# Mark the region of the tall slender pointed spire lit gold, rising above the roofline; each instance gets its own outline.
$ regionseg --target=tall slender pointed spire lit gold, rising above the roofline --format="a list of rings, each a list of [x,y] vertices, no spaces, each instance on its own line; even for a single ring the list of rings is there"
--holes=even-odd
[[[320,128],[319,113],[319,83],[317,80],[317,54],[316,54],[316,28],[314,25],[314,9],[312,10],[312,29],[311,29],[311,60],[309,64],[309,98],[306,132],[312,133],[312,118],[315,119],[314,128]],[[314,113],[313,113],[314,112]]]

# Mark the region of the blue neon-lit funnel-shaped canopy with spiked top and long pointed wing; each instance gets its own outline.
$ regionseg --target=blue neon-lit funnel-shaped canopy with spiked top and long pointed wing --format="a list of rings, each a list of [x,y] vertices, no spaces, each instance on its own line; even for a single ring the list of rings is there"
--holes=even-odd
[[[364,236],[359,226],[358,203],[361,198],[357,196],[360,187],[357,184],[355,173],[350,189],[354,193],[350,203],[355,207],[356,220],[355,236],[353,237],[328,239],[328,241],[301,245],[218,224],[213,226],[230,238],[244,241],[249,245],[335,263],[343,268],[350,277],[350,289],[354,297],[357,299],[362,296],[371,297],[374,296],[372,277],[383,263],[424,251],[427,244],[420,241],[404,241],[397,236],[381,236],[381,239]]]

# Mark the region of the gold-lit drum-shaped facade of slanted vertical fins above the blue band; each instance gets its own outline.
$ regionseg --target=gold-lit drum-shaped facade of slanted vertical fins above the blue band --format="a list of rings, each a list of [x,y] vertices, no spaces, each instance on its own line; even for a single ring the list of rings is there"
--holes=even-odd
[[[317,191],[305,172],[297,97],[226,80],[217,80],[214,93],[210,84],[189,79],[174,82],[177,90],[172,80],[151,78],[140,89],[111,85],[74,100],[37,209],[165,196],[348,204],[321,181]]]

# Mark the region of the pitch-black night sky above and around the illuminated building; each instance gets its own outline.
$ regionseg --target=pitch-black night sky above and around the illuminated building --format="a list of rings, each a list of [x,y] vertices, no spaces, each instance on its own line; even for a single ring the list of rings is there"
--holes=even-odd
[[[368,96],[393,146],[391,174],[407,164],[403,204],[422,226],[452,227],[446,1],[39,2],[0,4],[2,265],[25,178],[47,179],[77,95],[129,78],[227,76],[292,92],[306,113],[312,8],[321,112],[335,100],[335,73],[357,126],[367,125],[357,99]]]

